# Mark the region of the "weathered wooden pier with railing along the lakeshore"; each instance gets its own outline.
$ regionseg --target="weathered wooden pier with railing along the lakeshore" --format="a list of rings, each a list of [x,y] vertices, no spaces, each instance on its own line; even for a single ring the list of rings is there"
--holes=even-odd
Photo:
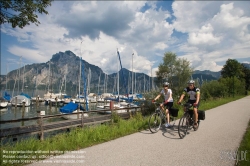
[[[127,112],[119,113],[118,116],[120,116],[123,119],[129,119],[131,114],[134,114],[137,111],[145,111],[145,107],[127,107],[127,108],[121,108],[126,109]],[[112,113],[116,110],[121,109],[113,109],[111,110]],[[135,111],[131,111],[134,109]],[[44,133],[49,131],[55,131],[55,130],[62,130],[67,129],[70,130],[70,128],[73,127],[86,127],[90,125],[95,124],[103,124],[105,122],[109,122],[112,119],[112,114],[105,114],[106,111],[110,111],[109,109],[104,110],[93,110],[93,111],[83,111],[78,112],[74,114],[82,114],[81,118],[79,119],[73,119],[73,120],[62,120],[58,122],[50,122],[50,123],[44,123],[45,120],[51,119],[51,118],[58,118],[63,117],[65,114],[56,114],[56,115],[48,115],[44,116],[40,113],[40,111],[37,112],[37,117],[30,117],[30,118],[21,118],[21,119],[14,119],[14,120],[3,120],[0,121],[0,124],[7,124],[7,123],[15,123],[15,122],[24,122],[24,121],[37,121],[36,125],[29,125],[29,126],[22,126],[22,127],[12,127],[12,128],[4,128],[0,129],[0,139],[11,137],[14,139],[15,136],[20,135],[32,135],[32,134],[38,134],[38,138],[42,141],[44,139]],[[84,117],[84,113],[100,113],[98,116],[90,116],[90,117]],[[102,115],[101,115],[102,114]]]

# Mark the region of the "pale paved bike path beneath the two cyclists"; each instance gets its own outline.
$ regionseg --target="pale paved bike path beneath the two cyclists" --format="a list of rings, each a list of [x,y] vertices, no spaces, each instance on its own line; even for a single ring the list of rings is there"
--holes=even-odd
[[[179,138],[176,126],[173,129],[163,127],[154,134],[144,130],[81,149],[77,151],[79,153],[70,152],[58,159],[47,159],[46,162],[60,162],[53,164],[60,166],[234,165],[233,159],[226,158],[226,152],[237,150],[249,119],[250,96],[247,96],[207,110],[206,119],[201,121],[199,129],[192,130],[184,139]],[[67,155],[79,155],[80,159],[73,158],[75,161],[70,163]],[[250,150],[246,155],[250,155]],[[69,163],[64,163],[63,157]],[[83,160],[83,163],[76,164]]]

